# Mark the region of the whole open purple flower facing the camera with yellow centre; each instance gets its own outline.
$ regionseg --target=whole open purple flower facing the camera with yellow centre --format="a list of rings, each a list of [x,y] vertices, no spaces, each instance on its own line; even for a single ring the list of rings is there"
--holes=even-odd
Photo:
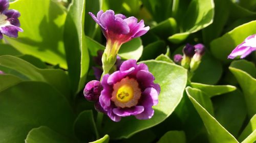
[[[103,112],[115,122],[126,116],[140,120],[152,118],[152,106],[157,105],[160,93],[160,86],[154,80],[145,64],[137,65],[136,60],[124,61],[119,71],[102,78],[99,103]]]

